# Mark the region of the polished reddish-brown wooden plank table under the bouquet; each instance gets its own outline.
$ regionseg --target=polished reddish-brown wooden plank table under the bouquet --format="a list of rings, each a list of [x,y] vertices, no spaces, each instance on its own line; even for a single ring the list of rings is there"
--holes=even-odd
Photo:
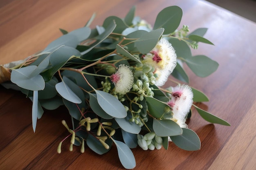
[[[0,2],[0,64],[23,59],[61,36],[58,28],[72,31],[83,26],[93,12],[92,28],[109,15],[124,17],[130,7],[136,15],[154,23],[159,11],[178,5],[183,24],[193,31],[207,27],[207,39],[193,55],[216,60],[218,70],[207,78],[188,71],[190,85],[206,93],[210,102],[200,104],[231,126],[209,124],[195,110],[189,128],[201,139],[201,150],[184,151],[170,143],[168,150],[132,149],[136,170],[252,170],[256,167],[256,24],[206,1],[196,0],[9,0]],[[62,153],[59,142],[68,134],[61,124],[70,119],[65,108],[46,111],[38,120],[36,133],[31,125],[31,101],[25,95],[0,87],[0,169],[75,170],[124,169],[113,147],[105,155],[89,148],[74,147]],[[254,168],[253,168],[254,167]]]

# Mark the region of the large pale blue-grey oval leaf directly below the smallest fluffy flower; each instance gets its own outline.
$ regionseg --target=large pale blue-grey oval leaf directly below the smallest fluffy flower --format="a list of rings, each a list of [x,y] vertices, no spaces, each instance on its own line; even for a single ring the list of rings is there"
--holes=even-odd
[[[110,116],[116,118],[124,118],[127,112],[124,105],[113,95],[104,91],[95,90],[99,106]]]

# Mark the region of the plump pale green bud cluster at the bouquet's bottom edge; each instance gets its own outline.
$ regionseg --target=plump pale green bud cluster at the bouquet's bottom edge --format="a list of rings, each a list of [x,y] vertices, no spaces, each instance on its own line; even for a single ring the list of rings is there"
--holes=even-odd
[[[155,132],[148,132],[146,135],[137,135],[138,145],[143,150],[157,150],[162,148],[163,139],[155,134]]]

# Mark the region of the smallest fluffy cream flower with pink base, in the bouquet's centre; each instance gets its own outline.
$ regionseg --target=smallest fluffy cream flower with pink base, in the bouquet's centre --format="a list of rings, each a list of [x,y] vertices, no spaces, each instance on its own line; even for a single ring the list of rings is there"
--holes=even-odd
[[[110,80],[115,85],[117,93],[126,94],[133,85],[133,74],[129,66],[120,64],[117,72],[110,76]]]

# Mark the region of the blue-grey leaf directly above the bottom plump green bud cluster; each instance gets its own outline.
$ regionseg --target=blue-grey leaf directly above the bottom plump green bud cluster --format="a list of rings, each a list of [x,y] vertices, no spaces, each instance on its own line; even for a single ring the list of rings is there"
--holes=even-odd
[[[115,118],[115,121],[120,126],[120,128],[126,132],[138,134],[141,131],[141,127],[130,121],[131,118],[132,116],[130,113],[126,118]]]

